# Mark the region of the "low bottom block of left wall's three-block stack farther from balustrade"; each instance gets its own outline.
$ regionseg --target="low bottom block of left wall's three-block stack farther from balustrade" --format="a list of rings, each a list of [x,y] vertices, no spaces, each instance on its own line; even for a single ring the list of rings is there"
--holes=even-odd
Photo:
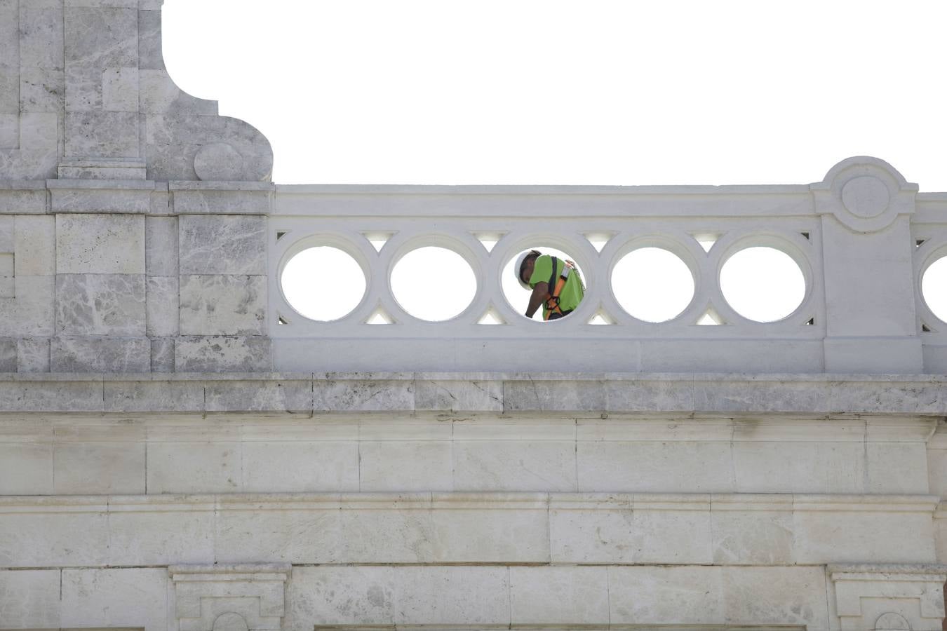
[[[147,373],[152,365],[148,338],[53,338],[54,373]]]

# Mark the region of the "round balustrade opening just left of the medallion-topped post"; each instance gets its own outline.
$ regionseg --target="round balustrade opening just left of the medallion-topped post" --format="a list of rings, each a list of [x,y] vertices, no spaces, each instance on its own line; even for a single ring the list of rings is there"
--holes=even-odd
[[[720,271],[720,289],[734,311],[755,322],[776,322],[806,297],[806,279],[793,257],[776,248],[732,254]]]

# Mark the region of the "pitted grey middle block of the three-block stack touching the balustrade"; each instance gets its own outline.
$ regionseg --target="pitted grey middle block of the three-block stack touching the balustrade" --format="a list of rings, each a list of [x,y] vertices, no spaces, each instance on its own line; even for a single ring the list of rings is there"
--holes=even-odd
[[[266,276],[181,276],[181,334],[264,334],[266,280]]]

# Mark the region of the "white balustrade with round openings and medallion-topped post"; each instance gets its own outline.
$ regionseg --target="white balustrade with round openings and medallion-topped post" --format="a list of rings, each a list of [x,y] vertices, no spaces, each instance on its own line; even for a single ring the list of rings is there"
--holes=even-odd
[[[278,186],[267,234],[275,364],[538,370],[543,343],[577,371],[937,373],[947,324],[920,276],[947,254],[947,198],[916,191],[873,158],[795,186]],[[369,242],[378,235],[388,237],[380,252]],[[488,250],[478,237],[498,241]],[[608,240],[599,252],[588,237]],[[477,280],[473,302],[446,322],[412,316],[389,284],[404,254],[432,245],[460,254]],[[365,273],[363,299],[340,320],[301,316],[280,288],[283,266],[314,246],[343,250]],[[505,266],[537,246],[571,254],[584,274],[585,298],[561,321],[530,321],[503,294]],[[801,304],[777,322],[748,320],[721,290],[728,257],[753,246],[789,254],[805,278]],[[693,275],[693,299],[669,322],[637,320],[616,300],[616,263],[641,247],[676,254]],[[721,325],[697,324],[708,310]],[[393,324],[366,324],[380,311]],[[477,324],[488,312],[503,324]],[[589,324],[596,315],[612,324]]]

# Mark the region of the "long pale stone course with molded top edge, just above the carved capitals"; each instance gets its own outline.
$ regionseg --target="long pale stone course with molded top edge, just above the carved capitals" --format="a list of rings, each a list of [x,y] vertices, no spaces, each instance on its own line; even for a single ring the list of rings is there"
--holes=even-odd
[[[0,567],[938,562],[938,498],[748,494],[718,510],[716,497],[628,494],[591,510],[558,493],[3,497]]]

